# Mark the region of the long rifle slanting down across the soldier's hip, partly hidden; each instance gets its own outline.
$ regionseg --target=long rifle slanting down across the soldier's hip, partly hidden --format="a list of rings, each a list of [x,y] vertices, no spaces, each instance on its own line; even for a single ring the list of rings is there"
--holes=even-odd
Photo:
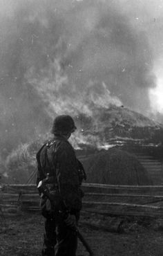
[[[52,197],[51,197],[50,192],[48,190],[48,187],[46,186],[46,183],[44,181],[39,181],[39,184],[37,185],[37,188],[38,188],[40,194],[44,194],[44,196],[46,196],[49,199],[50,203],[53,203]],[[63,219],[66,219],[66,216],[67,216],[68,213],[59,211],[59,214],[62,215]],[[83,235],[81,235],[81,232],[79,231],[79,228],[77,228],[77,226],[70,227],[70,228],[72,228],[76,232],[77,237],[79,238],[81,243],[84,245],[84,247],[88,251],[89,255],[93,256],[94,253],[91,250],[90,246],[88,245],[86,239],[84,239]]]

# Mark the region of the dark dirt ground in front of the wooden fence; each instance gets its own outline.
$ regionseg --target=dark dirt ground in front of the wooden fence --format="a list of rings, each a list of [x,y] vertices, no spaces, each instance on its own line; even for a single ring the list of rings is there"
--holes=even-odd
[[[39,213],[23,213],[17,217],[0,219],[0,255],[23,256],[41,255],[43,241],[44,218]],[[147,221],[148,222],[148,221]],[[88,228],[84,224],[79,225],[81,233],[95,255],[100,256],[130,256],[130,255],[163,255],[163,230],[151,227],[151,223],[143,225],[138,222],[130,222],[130,225],[121,232],[107,232]],[[88,253],[78,243],[77,256],[87,256]]]

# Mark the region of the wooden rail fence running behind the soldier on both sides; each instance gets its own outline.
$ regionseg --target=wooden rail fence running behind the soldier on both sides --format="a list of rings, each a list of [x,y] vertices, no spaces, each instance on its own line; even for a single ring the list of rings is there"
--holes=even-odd
[[[104,185],[84,183],[84,212],[105,215],[163,218],[163,185]],[[1,185],[0,206],[3,212],[39,211],[35,185]]]

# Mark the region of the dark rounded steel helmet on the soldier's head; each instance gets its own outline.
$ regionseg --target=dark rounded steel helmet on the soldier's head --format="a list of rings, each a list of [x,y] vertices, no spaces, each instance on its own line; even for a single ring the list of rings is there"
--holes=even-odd
[[[52,134],[73,132],[77,129],[71,116],[57,116],[52,125]]]

